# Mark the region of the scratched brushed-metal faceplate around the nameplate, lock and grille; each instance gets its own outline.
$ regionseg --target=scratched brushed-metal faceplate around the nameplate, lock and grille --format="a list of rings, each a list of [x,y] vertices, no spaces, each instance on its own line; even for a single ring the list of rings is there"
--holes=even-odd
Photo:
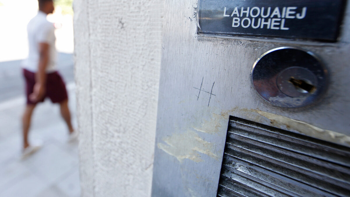
[[[230,115],[316,138],[327,134],[337,143],[348,139],[341,134],[350,135],[349,4],[340,41],[331,44],[198,36],[196,7],[197,0],[165,1],[152,196],[216,195]],[[321,101],[283,109],[255,92],[254,61],[282,46],[310,50],[329,68]]]

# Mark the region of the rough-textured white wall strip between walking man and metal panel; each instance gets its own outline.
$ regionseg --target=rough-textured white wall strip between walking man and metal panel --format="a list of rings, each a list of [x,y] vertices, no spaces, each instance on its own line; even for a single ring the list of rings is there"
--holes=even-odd
[[[150,196],[162,0],[75,0],[82,196]]]

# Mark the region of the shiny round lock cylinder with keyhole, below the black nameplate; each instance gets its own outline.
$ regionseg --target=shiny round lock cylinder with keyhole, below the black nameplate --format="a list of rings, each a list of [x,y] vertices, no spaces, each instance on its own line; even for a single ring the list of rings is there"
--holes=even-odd
[[[325,92],[328,71],[311,52],[279,47],[262,54],[252,72],[255,90],[266,101],[286,108],[307,106]]]

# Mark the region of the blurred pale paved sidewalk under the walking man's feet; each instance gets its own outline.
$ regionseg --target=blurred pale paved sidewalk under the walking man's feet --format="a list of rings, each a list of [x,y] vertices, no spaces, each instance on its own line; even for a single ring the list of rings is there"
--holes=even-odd
[[[72,121],[76,124],[75,87],[67,86]],[[0,197],[80,196],[77,142],[67,143],[68,131],[58,105],[47,99],[34,111],[30,141],[43,147],[22,161],[20,117],[24,97],[0,102]]]

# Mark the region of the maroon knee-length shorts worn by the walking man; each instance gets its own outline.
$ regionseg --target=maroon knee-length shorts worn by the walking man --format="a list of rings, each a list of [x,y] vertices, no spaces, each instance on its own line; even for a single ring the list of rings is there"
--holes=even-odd
[[[36,104],[37,102],[29,100],[29,95],[33,93],[35,73],[23,69],[23,75],[26,79],[27,104]],[[67,90],[61,75],[59,75],[59,73],[56,71],[46,74],[46,76],[45,95],[43,99],[38,102],[43,102],[46,97],[49,97],[52,103],[61,103],[62,101],[68,99]]]

